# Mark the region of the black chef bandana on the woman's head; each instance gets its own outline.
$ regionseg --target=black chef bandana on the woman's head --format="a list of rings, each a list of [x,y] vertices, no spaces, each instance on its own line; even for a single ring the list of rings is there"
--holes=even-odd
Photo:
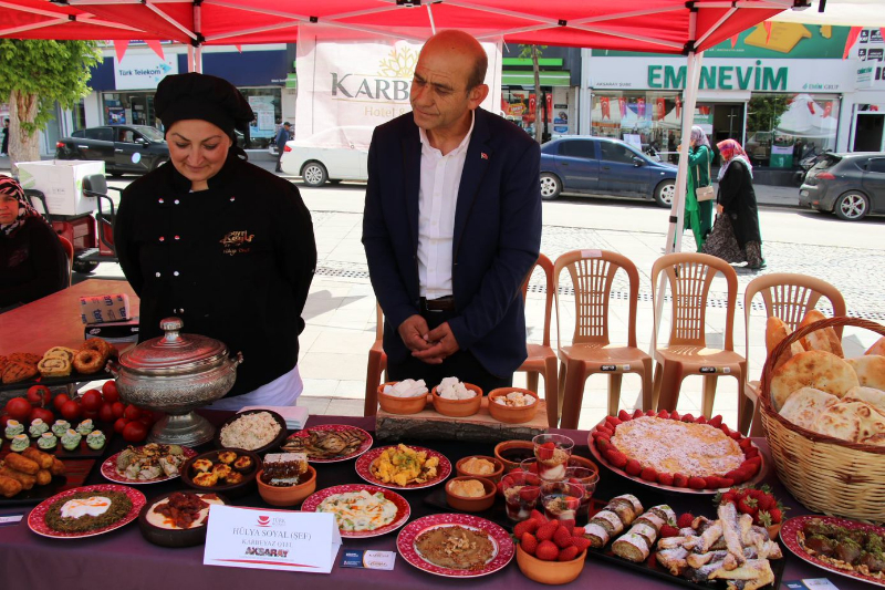
[[[254,116],[233,84],[195,72],[164,77],[157,86],[154,108],[167,132],[176,121],[199,118],[216,125],[231,138],[235,128],[246,132]]]

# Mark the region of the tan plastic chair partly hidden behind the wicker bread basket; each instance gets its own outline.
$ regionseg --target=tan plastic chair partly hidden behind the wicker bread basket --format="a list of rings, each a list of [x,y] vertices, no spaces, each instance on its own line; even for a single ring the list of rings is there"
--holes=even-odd
[[[833,308],[833,315],[845,315],[845,299],[839,289],[826,281],[790,272],[772,272],[757,277],[743,293],[743,324],[746,328],[747,344],[747,379],[743,384],[741,404],[743,421],[739,424],[742,433],[750,432],[751,436],[762,436],[762,421],[759,417],[759,382],[750,381],[750,309],[757,294],[762,296],[766,303],[766,318],[780,318],[790,330],[795,330],[799,322],[810,310],[818,306],[821,298],[826,298]],[[834,328],[836,335],[842,340],[842,327]]]

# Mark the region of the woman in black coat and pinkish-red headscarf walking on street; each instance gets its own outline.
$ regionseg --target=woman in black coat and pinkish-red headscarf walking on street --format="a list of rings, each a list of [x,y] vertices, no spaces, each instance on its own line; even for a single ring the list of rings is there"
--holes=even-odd
[[[762,236],[759,231],[759,210],[756,206],[753,173],[747,153],[735,139],[716,144],[722,157],[719,169],[719,214],[702,252],[727,262],[747,262],[747,268],[766,267],[762,258]]]

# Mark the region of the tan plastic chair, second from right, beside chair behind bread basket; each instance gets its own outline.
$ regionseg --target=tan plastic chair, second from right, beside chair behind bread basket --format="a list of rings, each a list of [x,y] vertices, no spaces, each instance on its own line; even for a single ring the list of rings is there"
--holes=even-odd
[[[657,330],[653,330],[652,345],[655,351],[654,407],[676,410],[683,380],[688,375],[704,376],[701,412],[706,417],[712,413],[716,383],[719,375],[729,375],[743,385],[747,360],[735,352],[735,306],[738,297],[738,275],[731,266],[715,256],[705,253],[670,253],[655,260],[652,267],[652,301],[657,317],[657,288],[660,273],[669,280],[673,297],[673,327],[669,342],[657,346]],[[708,349],[705,325],[707,296],[717,272],[721,272],[728,284],[726,307],[725,349]],[[738,404],[738,423],[741,422],[742,404]]]

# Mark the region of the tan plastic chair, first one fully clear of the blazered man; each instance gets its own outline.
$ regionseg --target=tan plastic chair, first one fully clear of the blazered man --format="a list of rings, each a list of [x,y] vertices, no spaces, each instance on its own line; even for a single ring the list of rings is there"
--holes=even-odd
[[[556,341],[564,368],[562,384],[562,427],[576,428],[581,415],[584,384],[594,373],[608,374],[608,414],[617,413],[621,380],[624,373],[636,373],[643,381],[643,410],[652,407],[652,358],[636,346],[636,304],[639,297],[639,272],[631,260],[605,250],[573,250],[556,259],[553,281],[559,287],[560,272],[569,269],[574,286],[575,328],[572,344],[561,345],[559,289],[556,292]],[[608,300],[618,269],[629,281],[629,318],[627,345],[608,341]]]

